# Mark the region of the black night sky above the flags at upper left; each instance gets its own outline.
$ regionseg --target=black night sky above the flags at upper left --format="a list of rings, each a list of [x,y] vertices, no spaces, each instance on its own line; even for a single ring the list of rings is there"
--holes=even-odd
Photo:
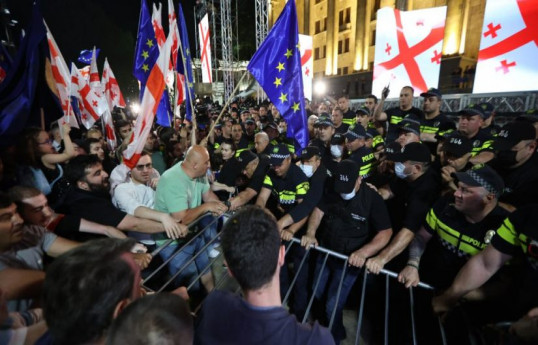
[[[19,21],[24,27],[31,13],[34,0],[4,0],[3,3],[11,11],[11,18]],[[163,4],[163,26],[168,32],[167,0],[147,0],[151,10],[152,3]],[[239,18],[251,18],[248,22],[239,23],[241,42],[240,58],[249,59],[254,53],[254,1],[232,0],[239,3]],[[190,36],[191,50],[195,51],[194,41],[194,6],[195,0],[182,0],[185,11],[187,30]],[[177,0],[174,0],[177,10]],[[138,83],[132,75],[133,54],[140,15],[140,0],[42,0],[43,18],[70,65],[71,61],[81,68],[77,62],[83,49],[93,46],[101,49],[98,67],[101,71],[105,57],[112,67],[126,98],[138,97]],[[235,30],[235,28],[234,28]]]

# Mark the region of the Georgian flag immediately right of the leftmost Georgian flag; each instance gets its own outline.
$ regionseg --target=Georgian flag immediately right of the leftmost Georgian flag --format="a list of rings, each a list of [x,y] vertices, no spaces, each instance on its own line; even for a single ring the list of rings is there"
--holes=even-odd
[[[88,81],[80,74],[77,66],[71,64],[71,96],[77,98],[80,120],[87,129],[108,109],[104,97],[96,89],[90,88]]]

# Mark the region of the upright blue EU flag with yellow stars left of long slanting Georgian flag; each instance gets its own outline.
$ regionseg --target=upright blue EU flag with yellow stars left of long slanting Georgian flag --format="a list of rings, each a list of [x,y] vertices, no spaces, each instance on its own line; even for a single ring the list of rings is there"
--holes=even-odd
[[[159,46],[151,24],[151,15],[146,0],[142,0],[133,66],[133,74],[140,81],[142,87],[146,85],[149,72],[151,72],[157,58],[159,58]]]

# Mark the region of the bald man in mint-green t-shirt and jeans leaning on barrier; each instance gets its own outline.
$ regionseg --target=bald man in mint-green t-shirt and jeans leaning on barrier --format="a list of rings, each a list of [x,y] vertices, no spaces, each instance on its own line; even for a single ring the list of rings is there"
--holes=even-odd
[[[206,171],[210,168],[209,153],[203,146],[195,145],[189,148],[185,160],[172,166],[164,172],[157,185],[155,194],[155,209],[166,212],[172,217],[181,220],[183,224],[189,224],[198,217],[210,212],[213,216],[220,216],[228,207],[219,201],[218,197],[211,191],[209,182],[206,177]],[[200,228],[202,228],[200,226]],[[182,252],[174,257],[169,263],[171,274],[175,274],[181,267],[198,253],[206,240],[216,236],[212,231],[205,231],[207,236],[197,237],[192,243],[182,248]],[[214,236],[212,236],[214,235]],[[161,246],[165,238],[156,238],[157,245]],[[160,255],[164,260],[172,256],[177,250],[177,246],[182,243],[177,241],[164,248]],[[179,275],[180,278],[176,283],[190,283],[203,269],[209,265],[207,254],[201,253],[196,259],[195,264],[191,264]],[[213,287],[211,271],[201,278],[206,290]]]

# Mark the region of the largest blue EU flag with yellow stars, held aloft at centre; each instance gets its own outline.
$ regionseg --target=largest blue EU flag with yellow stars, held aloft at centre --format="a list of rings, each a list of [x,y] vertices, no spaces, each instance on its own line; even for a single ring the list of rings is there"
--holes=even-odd
[[[295,138],[300,148],[305,148],[308,126],[294,0],[286,3],[247,69],[288,123],[288,137]]]

